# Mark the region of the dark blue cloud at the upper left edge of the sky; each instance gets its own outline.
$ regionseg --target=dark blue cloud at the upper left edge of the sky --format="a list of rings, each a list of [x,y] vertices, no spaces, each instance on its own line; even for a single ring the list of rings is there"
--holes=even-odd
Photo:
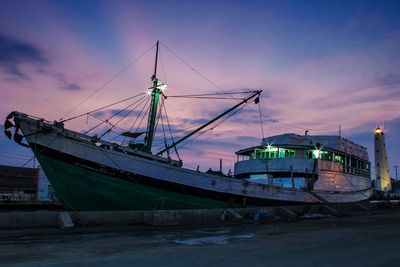
[[[33,44],[0,34],[0,69],[10,76],[30,80],[29,76],[22,71],[24,64],[40,69],[46,67],[49,61]]]

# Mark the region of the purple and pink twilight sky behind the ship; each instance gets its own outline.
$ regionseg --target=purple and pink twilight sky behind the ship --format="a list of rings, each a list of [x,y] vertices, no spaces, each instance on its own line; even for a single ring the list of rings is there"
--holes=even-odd
[[[3,0],[0,118],[17,110],[53,121],[144,93],[160,40],[157,71],[167,96],[263,90],[263,131],[258,106],[249,104],[183,146],[185,166],[215,169],[222,158],[224,171],[233,170],[234,152],[260,144],[263,134],[337,135],[339,127],[343,137],[367,147],[373,161],[373,131],[380,126],[395,177],[398,14],[400,2],[389,0]],[[235,103],[170,97],[165,107],[177,138],[177,129],[187,131]],[[106,119],[127,104],[96,116]],[[84,116],[66,126],[85,131],[97,122]],[[155,147],[162,136],[159,131]],[[0,164],[22,166],[31,157],[29,149],[0,136]]]

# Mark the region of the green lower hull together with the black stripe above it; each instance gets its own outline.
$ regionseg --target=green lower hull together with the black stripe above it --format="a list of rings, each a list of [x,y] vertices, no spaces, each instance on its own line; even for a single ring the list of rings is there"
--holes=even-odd
[[[40,151],[39,163],[63,205],[71,210],[213,209],[303,203],[188,186],[107,167],[35,143],[30,145]]]

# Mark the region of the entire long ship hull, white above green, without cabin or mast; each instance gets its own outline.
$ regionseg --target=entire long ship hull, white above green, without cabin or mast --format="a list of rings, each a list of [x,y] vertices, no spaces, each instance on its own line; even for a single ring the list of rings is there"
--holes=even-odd
[[[306,192],[185,169],[165,158],[99,140],[16,113],[16,124],[58,197],[74,210],[202,209],[274,204],[344,203],[371,188]]]

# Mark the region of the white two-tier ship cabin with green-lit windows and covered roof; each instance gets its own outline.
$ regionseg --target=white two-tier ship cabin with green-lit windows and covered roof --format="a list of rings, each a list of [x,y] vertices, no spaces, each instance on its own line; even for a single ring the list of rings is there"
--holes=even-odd
[[[269,185],[307,187],[321,172],[371,176],[367,149],[339,136],[276,135],[236,155],[235,178]]]

